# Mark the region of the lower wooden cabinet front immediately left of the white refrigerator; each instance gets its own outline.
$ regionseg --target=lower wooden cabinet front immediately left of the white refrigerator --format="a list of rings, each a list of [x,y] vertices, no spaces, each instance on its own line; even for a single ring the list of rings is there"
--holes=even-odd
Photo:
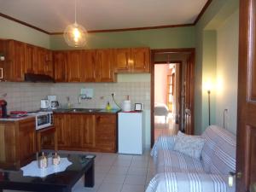
[[[96,115],[96,148],[116,151],[116,115]]]

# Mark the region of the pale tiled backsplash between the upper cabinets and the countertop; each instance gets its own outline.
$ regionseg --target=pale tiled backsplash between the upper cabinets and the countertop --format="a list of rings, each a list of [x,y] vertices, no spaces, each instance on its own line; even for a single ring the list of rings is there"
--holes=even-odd
[[[81,88],[92,88],[94,96],[90,100],[81,100],[79,104],[79,94]],[[41,83],[0,83],[0,98],[4,97],[8,102],[8,111],[26,110],[32,111],[40,108],[40,100],[48,95],[56,95],[61,106],[67,105],[67,96],[74,108],[105,108],[106,103],[110,102],[114,107],[111,93],[115,93],[116,102],[121,104],[126,96],[130,96],[131,106],[135,102],[142,102],[143,109],[150,108],[150,82],[120,82],[120,83],[60,83],[60,84],[41,84]]]

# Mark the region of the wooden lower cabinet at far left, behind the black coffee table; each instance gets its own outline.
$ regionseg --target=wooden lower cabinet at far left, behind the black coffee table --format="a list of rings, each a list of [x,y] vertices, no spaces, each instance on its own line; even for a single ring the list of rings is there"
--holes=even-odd
[[[35,119],[0,122],[0,168],[19,169],[36,154]]]

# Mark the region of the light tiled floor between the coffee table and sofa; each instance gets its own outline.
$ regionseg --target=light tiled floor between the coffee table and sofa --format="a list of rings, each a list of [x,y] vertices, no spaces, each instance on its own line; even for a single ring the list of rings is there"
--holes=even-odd
[[[82,177],[73,192],[143,192],[154,176],[149,151],[143,155],[92,154],[96,154],[95,187],[84,188]]]

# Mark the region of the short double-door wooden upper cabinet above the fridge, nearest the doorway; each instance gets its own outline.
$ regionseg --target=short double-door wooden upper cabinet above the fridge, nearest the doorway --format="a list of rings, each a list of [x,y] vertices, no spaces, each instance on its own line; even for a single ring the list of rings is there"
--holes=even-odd
[[[115,49],[115,72],[116,73],[149,73],[148,48]]]

